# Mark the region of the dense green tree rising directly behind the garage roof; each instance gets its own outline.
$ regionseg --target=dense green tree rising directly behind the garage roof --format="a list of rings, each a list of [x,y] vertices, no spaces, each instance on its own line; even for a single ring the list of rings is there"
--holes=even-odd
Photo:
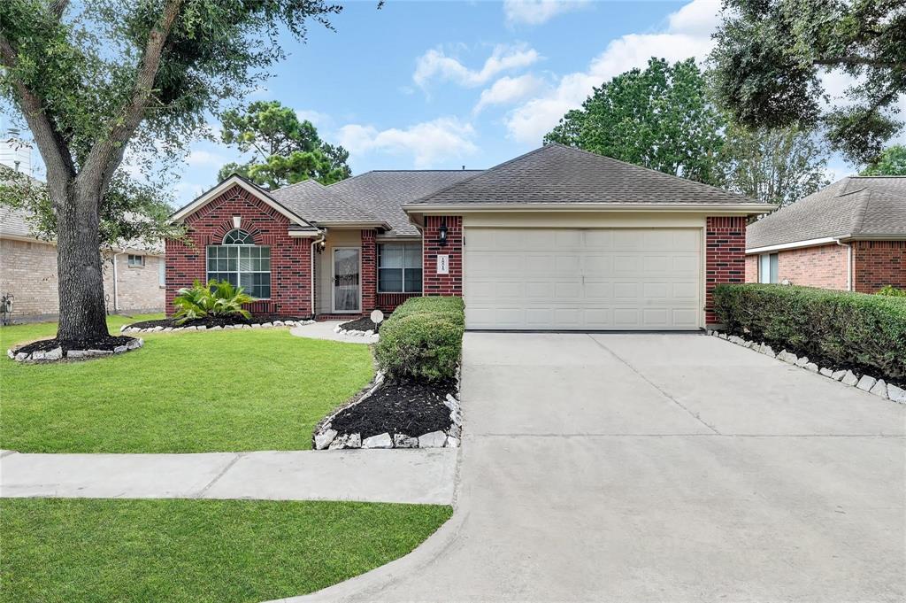
[[[646,69],[595,88],[582,109],[567,112],[545,141],[715,183],[722,126],[694,59],[671,65],[652,58]]]

